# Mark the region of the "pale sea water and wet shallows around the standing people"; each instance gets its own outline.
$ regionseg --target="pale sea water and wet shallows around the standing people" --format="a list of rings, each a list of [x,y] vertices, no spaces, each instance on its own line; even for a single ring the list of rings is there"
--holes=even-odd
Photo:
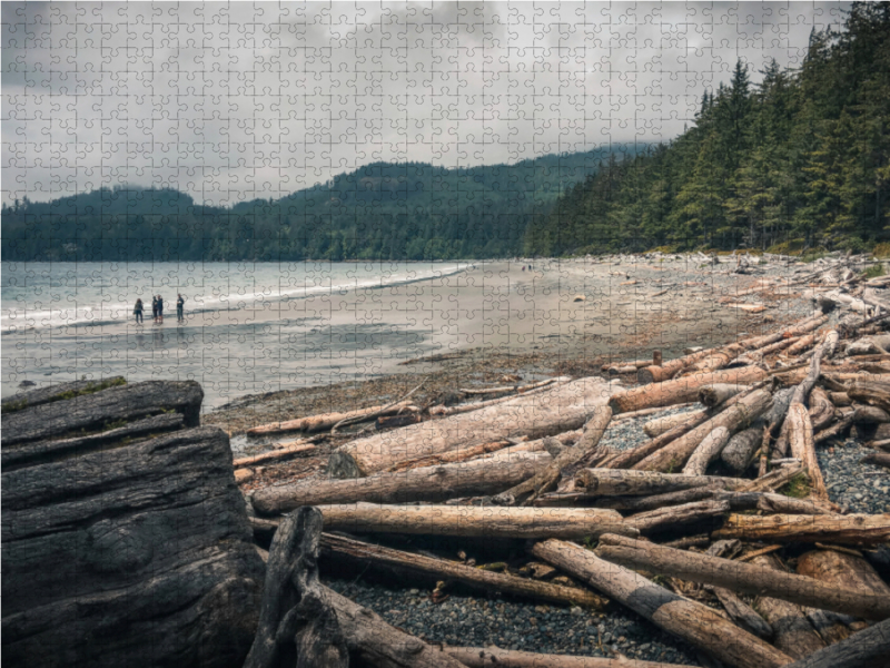
[[[384,297],[471,266],[4,262],[2,395],[22,382],[197,380],[209,409],[244,394],[370,377],[435,350],[429,327],[411,317],[411,299]],[[151,322],[157,294],[164,324]],[[142,325],[132,315],[137,298]]]

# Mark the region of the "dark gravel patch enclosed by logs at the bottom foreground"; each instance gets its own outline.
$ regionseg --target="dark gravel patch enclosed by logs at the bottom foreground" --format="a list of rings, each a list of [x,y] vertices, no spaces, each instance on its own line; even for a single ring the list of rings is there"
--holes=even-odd
[[[695,650],[633,612],[606,615],[500,599],[452,595],[435,605],[428,590],[328,580],[332,589],[370,608],[387,622],[427,642],[520,649],[543,654],[615,657],[699,666]]]

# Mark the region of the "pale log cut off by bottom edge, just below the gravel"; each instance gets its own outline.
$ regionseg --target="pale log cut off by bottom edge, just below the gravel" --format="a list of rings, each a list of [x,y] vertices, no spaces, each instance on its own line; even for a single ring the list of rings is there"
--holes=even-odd
[[[445,651],[467,668],[690,668],[680,664],[637,661],[620,657],[575,657],[571,655],[546,655],[518,649],[496,647],[446,647]]]

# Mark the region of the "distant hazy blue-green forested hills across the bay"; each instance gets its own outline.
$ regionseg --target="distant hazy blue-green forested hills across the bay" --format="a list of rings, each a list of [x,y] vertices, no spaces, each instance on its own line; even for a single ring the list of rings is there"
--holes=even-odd
[[[171,189],[116,188],[2,212],[3,259],[294,261],[503,257],[560,193],[634,146],[446,169],[367,165],[277,200],[201,206]]]

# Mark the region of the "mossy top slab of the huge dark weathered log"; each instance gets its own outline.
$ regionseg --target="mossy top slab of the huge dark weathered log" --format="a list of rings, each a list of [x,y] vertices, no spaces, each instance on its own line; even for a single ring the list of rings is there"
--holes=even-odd
[[[38,404],[3,414],[3,446],[81,431],[107,431],[120,421],[171,411],[182,414],[186,426],[197,426],[202,399],[204,391],[195,381],[146,381]]]

